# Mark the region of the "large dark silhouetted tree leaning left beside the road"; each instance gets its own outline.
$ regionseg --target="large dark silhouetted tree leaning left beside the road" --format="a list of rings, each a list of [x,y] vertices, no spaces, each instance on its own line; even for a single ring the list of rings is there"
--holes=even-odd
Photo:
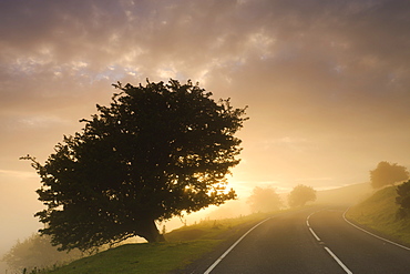
[[[163,241],[164,221],[235,199],[226,174],[239,163],[245,109],[188,81],[120,83],[110,106],[82,120],[44,165],[34,158],[48,209],[35,215],[61,250],[88,250],[134,235]]]

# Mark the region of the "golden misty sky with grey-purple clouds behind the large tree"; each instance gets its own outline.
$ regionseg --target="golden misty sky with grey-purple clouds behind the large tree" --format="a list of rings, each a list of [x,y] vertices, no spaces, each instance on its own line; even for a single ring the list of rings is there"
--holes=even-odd
[[[44,162],[112,83],[146,78],[249,106],[239,197],[410,168],[408,0],[1,0],[0,246],[40,227],[40,181],[19,158]]]

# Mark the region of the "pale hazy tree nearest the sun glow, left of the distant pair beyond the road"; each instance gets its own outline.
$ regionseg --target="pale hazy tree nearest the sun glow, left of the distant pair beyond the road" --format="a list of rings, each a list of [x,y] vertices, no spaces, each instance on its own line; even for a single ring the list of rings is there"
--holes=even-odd
[[[273,187],[256,186],[247,203],[253,212],[270,212],[277,211],[283,205],[279,194]]]

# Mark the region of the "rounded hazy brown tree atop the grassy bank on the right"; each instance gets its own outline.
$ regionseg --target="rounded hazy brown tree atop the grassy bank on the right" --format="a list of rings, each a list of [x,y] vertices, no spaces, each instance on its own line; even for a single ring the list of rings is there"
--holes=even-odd
[[[373,189],[402,182],[409,179],[409,172],[404,166],[397,163],[380,162],[377,168],[370,171],[370,182]]]

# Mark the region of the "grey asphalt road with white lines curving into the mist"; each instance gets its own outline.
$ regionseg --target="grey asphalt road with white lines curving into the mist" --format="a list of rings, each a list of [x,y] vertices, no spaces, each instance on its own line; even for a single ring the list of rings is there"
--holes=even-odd
[[[410,273],[410,250],[353,227],[342,213],[316,207],[275,216],[188,273]]]

